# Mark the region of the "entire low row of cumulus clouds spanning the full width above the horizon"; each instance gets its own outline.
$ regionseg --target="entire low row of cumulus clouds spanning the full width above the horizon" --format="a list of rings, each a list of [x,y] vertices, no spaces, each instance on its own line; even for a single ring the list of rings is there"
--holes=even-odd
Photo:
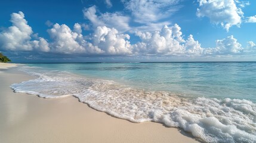
[[[91,9],[95,10],[94,8]],[[88,10],[88,11],[91,11]],[[94,13],[95,14],[95,13]],[[98,16],[91,16],[98,20]],[[33,34],[22,12],[11,14],[13,26],[0,33],[0,48],[11,51],[41,51],[79,55],[168,55],[171,57],[202,57],[206,55],[234,55],[248,53],[256,49],[249,41],[242,48],[233,35],[216,41],[213,48],[202,48],[193,35],[185,36],[178,24],[164,26],[161,30],[135,32],[140,41],[131,44],[128,34],[118,29],[97,26],[90,35],[82,34],[82,24],[75,23],[70,29],[66,24],[54,24],[47,32],[50,42]],[[92,20],[93,21],[93,20]],[[89,38],[90,37],[90,38]]]

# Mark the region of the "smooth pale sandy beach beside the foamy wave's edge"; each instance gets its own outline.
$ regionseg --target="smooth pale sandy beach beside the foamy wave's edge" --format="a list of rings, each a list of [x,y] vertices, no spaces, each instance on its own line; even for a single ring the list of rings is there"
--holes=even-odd
[[[0,64],[1,142],[198,142],[159,123],[116,119],[75,97],[45,99],[14,93],[12,83],[33,78],[7,69],[14,65]]]

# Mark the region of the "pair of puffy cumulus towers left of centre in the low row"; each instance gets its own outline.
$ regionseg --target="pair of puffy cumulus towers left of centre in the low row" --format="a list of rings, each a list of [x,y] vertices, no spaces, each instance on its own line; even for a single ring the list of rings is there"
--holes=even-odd
[[[129,35],[118,34],[118,30],[98,26],[91,35],[91,42],[82,35],[81,25],[76,23],[71,30],[66,24],[54,24],[48,33],[53,40],[52,52],[84,55],[126,55],[132,54]]]

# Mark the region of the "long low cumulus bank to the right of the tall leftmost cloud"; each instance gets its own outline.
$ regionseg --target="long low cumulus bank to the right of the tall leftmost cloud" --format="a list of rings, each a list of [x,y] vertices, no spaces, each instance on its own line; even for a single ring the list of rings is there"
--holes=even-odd
[[[242,45],[233,35],[216,41],[214,48],[202,48],[201,43],[181,32],[178,24],[164,26],[155,32],[135,33],[140,42],[131,45],[128,34],[120,34],[115,28],[98,26],[91,34],[90,41],[82,35],[81,25],[76,23],[71,30],[65,24],[54,24],[48,33],[53,40],[50,43],[53,52],[64,54],[97,55],[169,55],[183,57],[202,57],[204,55],[232,55],[243,52]],[[253,42],[248,42],[255,46]],[[41,49],[41,51],[43,51]]]

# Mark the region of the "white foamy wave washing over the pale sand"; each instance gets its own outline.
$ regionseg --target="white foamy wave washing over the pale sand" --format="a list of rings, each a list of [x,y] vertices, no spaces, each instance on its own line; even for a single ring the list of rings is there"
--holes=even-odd
[[[256,142],[256,104],[248,100],[184,98],[62,71],[33,68],[23,71],[38,78],[11,85],[15,92],[44,98],[73,95],[112,116],[182,128],[205,142]]]

